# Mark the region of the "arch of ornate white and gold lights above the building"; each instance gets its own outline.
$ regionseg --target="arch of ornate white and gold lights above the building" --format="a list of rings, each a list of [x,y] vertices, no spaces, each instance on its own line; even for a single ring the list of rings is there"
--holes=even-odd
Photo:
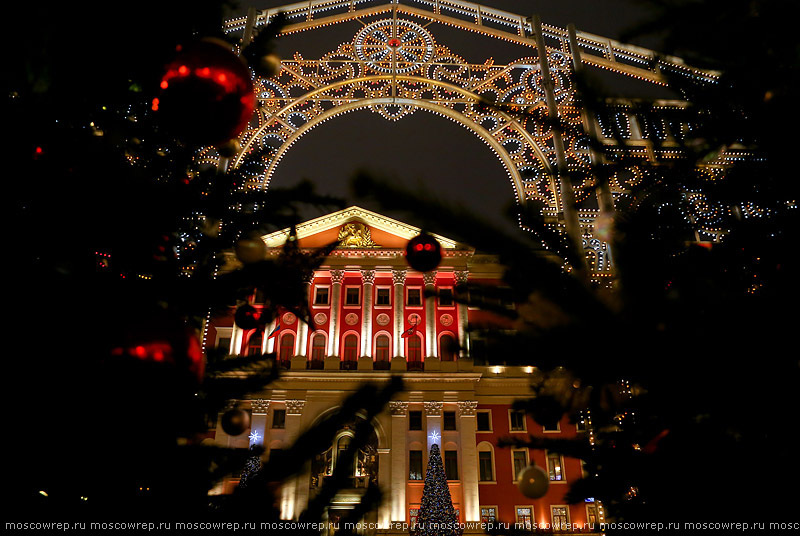
[[[288,21],[282,35],[345,21],[358,21],[361,27],[352,40],[319,59],[295,53],[292,59],[282,61],[278,75],[256,79],[259,106],[240,136],[242,151],[232,164],[238,165],[257,149],[273,150],[264,157],[263,174],[248,187],[266,190],[286,152],[324,121],[363,108],[396,121],[423,109],[479,136],[505,167],[518,204],[537,201],[553,221],[562,211],[553,173],[553,131],[537,119],[547,115],[547,107],[539,53],[526,17],[461,0],[402,0],[402,4],[400,0],[310,0],[262,11],[256,27],[268,24],[279,12]],[[429,29],[434,22],[522,45],[530,48],[531,54],[508,64],[496,64],[492,59],[471,64],[436,42]],[[233,19],[226,23],[225,31],[240,32],[246,24],[244,17]],[[569,36],[565,30],[547,25],[543,35],[558,113],[566,125],[567,166],[588,171],[591,155],[580,135],[583,118],[571,84]],[[678,58],[588,33],[578,33],[577,43],[584,64],[653,84],[666,83],[663,73],[700,83],[714,83],[718,78],[717,73],[688,67]],[[485,101],[499,106],[486,106]],[[219,163],[213,148],[205,150],[200,159]],[[584,176],[588,181],[589,174]],[[588,184],[580,186],[576,185],[579,201],[592,192]],[[625,189],[616,182],[611,186],[616,192]],[[591,235],[596,211],[581,211],[580,216],[584,234]],[[601,247],[592,249],[597,248]]]

